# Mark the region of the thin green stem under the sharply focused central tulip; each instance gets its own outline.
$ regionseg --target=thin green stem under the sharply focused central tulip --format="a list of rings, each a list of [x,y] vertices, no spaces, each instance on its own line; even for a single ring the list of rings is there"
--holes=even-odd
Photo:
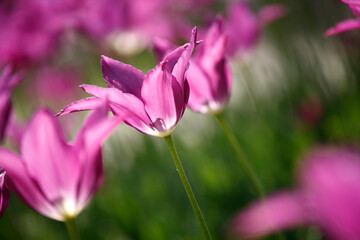
[[[189,181],[188,181],[188,179],[186,177],[184,168],[183,168],[183,166],[181,164],[181,161],[180,161],[180,158],[179,158],[179,156],[178,156],[178,154],[176,152],[176,149],[175,149],[173,140],[171,138],[171,135],[164,137],[164,139],[165,139],[165,142],[166,142],[166,144],[167,144],[167,146],[169,148],[171,156],[172,156],[172,158],[174,160],[176,170],[179,173],[180,179],[181,179],[181,181],[183,183],[186,194],[187,194],[187,196],[189,198],[189,201],[190,201],[191,206],[192,206],[192,208],[194,210],[196,218],[197,218],[197,220],[198,220],[198,222],[200,224],[200,227],[201,227],[201,230],[202,230],[202,232],[203,232],[203,234],[205,236],[205,239],[206,240],[211,240],[212,238],[211,238],[209,229],[208,229],[208,227],[206,225],[206,222],[205,222],[204,216],[203,216],[203,214],[202,214],[202,212],[200,210],[199,204],[196,201],[195,195],[194,195],[194,193],[193,193],[193,191],[191,189],[190,183],[189,183]]]

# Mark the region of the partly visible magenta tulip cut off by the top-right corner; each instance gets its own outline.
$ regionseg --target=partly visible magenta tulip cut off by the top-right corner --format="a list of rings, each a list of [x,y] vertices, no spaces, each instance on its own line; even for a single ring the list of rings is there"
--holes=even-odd
[[[341,2],[347,4],[356,19],[347,19],[339,22],[334,27],[326,30],[325,35],[331,36],[345,31],[360,28],[360,1],[359,0],[341,0]]]

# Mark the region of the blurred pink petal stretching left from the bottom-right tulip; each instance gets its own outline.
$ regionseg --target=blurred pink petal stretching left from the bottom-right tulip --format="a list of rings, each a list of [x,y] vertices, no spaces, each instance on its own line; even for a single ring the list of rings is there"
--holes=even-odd
[[[231,233],[237,237],[258,238],[303,224],[304,202],[297,193],[282,193],[258,202],[235,217]]]

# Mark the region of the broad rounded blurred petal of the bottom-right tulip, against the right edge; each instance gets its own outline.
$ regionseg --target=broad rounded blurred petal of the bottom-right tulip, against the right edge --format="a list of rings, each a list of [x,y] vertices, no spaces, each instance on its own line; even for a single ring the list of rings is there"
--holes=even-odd
[[[308,156],[301,180],[313,215],[333,239],[360,239],[360,155],[322,148]]]

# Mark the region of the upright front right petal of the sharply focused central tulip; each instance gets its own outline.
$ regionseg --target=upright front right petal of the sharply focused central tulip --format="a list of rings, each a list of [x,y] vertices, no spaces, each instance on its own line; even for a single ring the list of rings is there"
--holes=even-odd
[[[141,92],[146,112],[160,135],[171,133],[186,107],[183,89],[165,64],[149,71]]]

